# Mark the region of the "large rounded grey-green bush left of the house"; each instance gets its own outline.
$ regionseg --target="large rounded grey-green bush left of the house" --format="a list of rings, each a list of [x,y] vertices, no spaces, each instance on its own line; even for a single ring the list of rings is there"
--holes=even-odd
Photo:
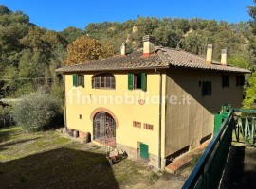
[[[64,120],[60,114],[60,101],[44,91],[25,95],[13,105],[14,120],[28,131],[54,127],[56,117]]]

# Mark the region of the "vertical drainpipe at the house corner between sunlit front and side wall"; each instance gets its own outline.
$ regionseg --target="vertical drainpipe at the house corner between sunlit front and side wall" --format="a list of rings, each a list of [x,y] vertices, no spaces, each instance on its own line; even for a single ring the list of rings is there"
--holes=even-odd
[[[161,149],[162,149],[162,73],[155,68],[155,73],[160,75],[159,79],[159,142],[158,142],[158,168],[161,169]]]

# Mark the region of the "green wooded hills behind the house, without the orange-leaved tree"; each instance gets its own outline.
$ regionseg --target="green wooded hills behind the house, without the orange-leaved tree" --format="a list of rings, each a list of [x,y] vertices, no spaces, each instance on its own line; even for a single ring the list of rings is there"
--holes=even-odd
[[[0,98],[28,94],[38,86],[61,95],[61,82],[54,70],[62,66],[68,44],[83,35],[112,44],[118,54],[121,43],[127,43],[128,49],[133,51],[141,47],[142,36],[148,34],[155,36],[157,45],[200,56],[205,56],[207,44],[211,43],[214,60],[220,60],[221,49],[228,48],[229,64],[255,69],[255,35],[253,27],[246,22],[229,24],[198,18],[137,17],[123,23],[92,23],[84,30],[70,26],[56,32],[36,26],[22,11],[11,11],[2,5]]]

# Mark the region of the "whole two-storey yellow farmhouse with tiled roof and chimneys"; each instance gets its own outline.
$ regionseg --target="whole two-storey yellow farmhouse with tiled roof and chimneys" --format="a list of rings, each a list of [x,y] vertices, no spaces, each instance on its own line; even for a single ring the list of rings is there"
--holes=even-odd
[[[154,45],[56,70],[64,75],[65,127],[90,134],[95,143],[126,151],[164,168],[213,133],[222,105],[240,107],[248,70]]]

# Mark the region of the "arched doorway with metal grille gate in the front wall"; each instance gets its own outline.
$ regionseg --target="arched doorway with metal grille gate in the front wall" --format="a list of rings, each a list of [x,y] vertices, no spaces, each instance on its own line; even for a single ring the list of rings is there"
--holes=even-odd
[[[116,122],[107,112],[98,112],[93,119],[93,139],[105,146],[116,147]]]

